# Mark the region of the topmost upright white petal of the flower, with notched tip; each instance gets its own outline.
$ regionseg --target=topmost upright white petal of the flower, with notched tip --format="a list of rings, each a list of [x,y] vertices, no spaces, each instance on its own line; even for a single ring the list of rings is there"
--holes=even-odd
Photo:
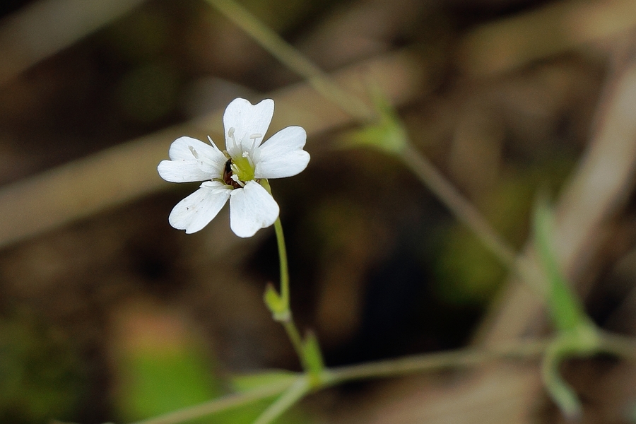
[[[259,135],[256,139],[256,146],[263,141],[263,137],[269,128],[271,117],[273,116],[273,100],[265,99],[257,105],[252,105],[249,101],[237,98],[232,100],[223,114],[223,126],[225,128],[225,149],[232,157],[240,156],[242,150],[250,148],[253,135]],[[233,130],[231,130],[233,128]],[[234,141],[228,135],[228,131],[233,131],[234,140],[240,146],[234,146]]]

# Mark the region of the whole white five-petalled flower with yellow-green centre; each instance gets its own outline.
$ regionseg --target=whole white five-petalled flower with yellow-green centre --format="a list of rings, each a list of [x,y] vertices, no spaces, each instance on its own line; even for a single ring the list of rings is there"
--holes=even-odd
[[[302,150],[307,134],[288,126],[263,143],[273,116],[271,99],[252,105],[232,100],[225,114],[225,148],[192,137],[180,137],[170,146],[170,160],[157,167],[170,182],[203,181],[170,213],[170,225],[192,233],[204,228],[230,199],[230,228],[239,237],[252,237],[278,218],[278,204],[259,184],[261,179],[291,177],[307,167],[310,155]]]

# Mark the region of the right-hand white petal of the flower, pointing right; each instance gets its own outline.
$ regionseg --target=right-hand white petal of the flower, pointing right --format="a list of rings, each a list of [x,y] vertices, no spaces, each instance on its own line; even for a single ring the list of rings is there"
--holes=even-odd
[[[305,170],[310,154],[302,150],[307,140],[305,129],[288,126],[271,136],[259,148],[254,178],[282,178]]]

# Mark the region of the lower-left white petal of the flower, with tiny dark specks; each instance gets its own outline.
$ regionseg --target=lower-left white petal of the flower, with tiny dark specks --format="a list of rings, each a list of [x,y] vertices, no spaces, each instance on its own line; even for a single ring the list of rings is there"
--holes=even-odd
[[[204,182],[196,192],[172,208],[168,218],[170,225],[177,230],[186,230],[187,234],[201,230],[223,208],[230,192],[232,189],[221,182]]]

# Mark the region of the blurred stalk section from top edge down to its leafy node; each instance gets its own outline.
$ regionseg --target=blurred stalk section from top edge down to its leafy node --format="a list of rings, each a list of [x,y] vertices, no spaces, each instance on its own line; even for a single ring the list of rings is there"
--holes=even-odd
[[[322,69],[291,47],[271,28],[261,23],[246,8],[233,0],[207,1],[235,25],[251,35],[273,57],[276,57],[288,69],[305,78],[314,90],[334,102],[342,110],[361,121],[368,121],[375,117],[375,112],[368,105],[360,101],[355,95],[346,93],[343,88],[331,81],[331,78]]]

